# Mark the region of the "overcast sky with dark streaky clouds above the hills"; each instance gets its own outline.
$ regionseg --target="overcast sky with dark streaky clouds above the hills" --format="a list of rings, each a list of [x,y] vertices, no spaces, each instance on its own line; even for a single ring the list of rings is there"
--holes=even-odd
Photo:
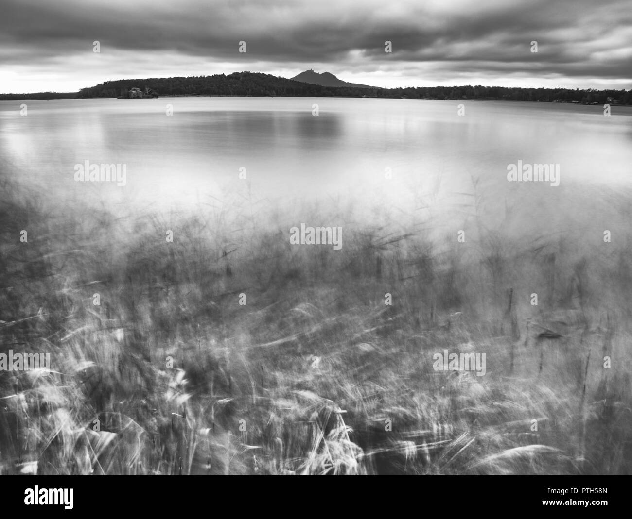
[[[291,78],[305,69],[387,88],[627,90],[632,7],[630,0],[0,0],[2,93],[246,70]]]

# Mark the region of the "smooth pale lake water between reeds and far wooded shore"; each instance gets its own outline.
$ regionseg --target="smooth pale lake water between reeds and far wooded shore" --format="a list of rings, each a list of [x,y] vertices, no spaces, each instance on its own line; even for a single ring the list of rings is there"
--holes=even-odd
[[[482,194],[493,212],[507,196],[554,205],[571,184],[631,184],[632,108],[616,105],[605,117],[600,106],[463,101],[458,116],[458,102],[439,100],[34,100],[20,116],[22,103],[0,102],[1,174],[113,210],[224,200],[249,185],[286,208],[346,200],[447,214]],[[126,186],[76,182],[85,160],[125,164]],[[560,188],[507,182],[518,160],[559,164]]]

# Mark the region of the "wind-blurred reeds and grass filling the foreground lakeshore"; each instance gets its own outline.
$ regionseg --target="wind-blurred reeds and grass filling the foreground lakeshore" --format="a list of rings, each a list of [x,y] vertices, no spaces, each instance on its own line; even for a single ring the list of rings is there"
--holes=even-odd
[[[542,232],[475,191],[465,243],[313,206],[333,251],[250,198],[113,215],[1,187],[0,353],[52,358],[0,372],[2,474],[632,471],[628,193]],[[487,373],[435,372],[444,349]]]

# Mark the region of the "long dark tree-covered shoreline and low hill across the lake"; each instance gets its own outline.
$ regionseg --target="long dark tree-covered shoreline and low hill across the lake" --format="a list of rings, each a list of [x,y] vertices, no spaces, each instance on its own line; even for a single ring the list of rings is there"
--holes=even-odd
[[[583,104],[632,104],[632,90],[569,88],[506,88],[501,86],[419,86],[409,88],[355,88],[320,86],[279,78],[270,74],[235,72],[189,78],[148,78],[106,81],[82,88],[77,93],[0,94],[0,100],[51,99],[66,97],[118,97],[130,88],[151,88],[159,96],[169,95],[252,95],[309,97],[388,97],[411,99],[490,99],[511,101],[575,102]]]

